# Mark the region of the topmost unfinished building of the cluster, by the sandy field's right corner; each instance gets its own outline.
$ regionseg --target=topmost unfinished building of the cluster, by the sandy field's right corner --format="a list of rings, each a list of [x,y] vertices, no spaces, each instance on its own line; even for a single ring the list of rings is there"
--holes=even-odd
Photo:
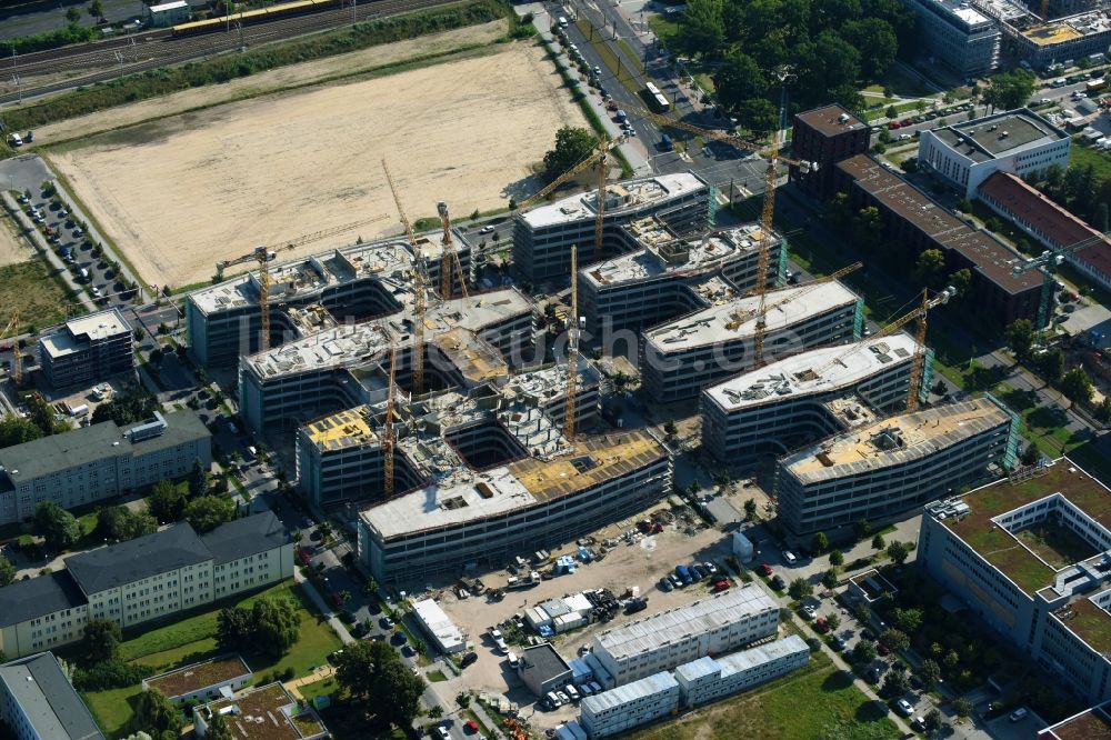
[[[659,174],[605,186],[601,253],[595,249],[598,193],[568,196],[513,216],[513,264],[532,282],[565,279],[571,248],[580,262],[613,257],[632,249],[621,227],[657,216],[677,233],[713,223],[715,189],[693,172]]]

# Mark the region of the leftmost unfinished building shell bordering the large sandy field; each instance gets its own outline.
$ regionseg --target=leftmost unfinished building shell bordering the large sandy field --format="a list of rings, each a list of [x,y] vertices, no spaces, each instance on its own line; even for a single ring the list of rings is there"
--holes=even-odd
[[[470,246],[458,231],[452,234],[466,273]],[[432,284],[440,280],[439,236],[424,234],[417,242]],[[404,237],[273,263],[268,270],[271,347],[314,329],[396,313],[412,302],[413,249]],[[452,286],[453,293],[459,291],[458,273],[452,274]],[[259,273],[252,270],[189,294],[186,322],[198,362],[207,368],[232,367],[241,356],[259,350],[261,293]],[[307,311],[294,316],[299,309]]]

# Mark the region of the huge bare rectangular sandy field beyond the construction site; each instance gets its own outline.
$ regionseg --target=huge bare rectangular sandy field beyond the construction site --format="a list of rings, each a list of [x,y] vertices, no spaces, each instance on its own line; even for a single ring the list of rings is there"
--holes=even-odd
[[[434,216],[438,200],[462,217],[539,189],[531,168],[556,130],[583,124],[544,53],[510,43],[267,94],[102,133],[48,159],[144,282],[203,282],[218,260],[257,244],[378,216],[287,254],[397,233],[382,158],[412,220]]]

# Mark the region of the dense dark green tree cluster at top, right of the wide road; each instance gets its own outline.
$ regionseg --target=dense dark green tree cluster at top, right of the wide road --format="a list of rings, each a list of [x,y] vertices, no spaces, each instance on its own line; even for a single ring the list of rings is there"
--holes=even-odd
[[[861,83],[915,47],[915,23],[898,0],[691,0],[670,44],[715,66],[718,102],[763,133],[779,117],[782,70],[800,108],[860,109]]]

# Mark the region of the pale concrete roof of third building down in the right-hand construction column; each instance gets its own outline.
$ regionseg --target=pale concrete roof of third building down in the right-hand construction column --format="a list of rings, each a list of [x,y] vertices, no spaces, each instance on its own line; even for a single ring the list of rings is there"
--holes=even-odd
[[[844,306],[855,304],[858,296],[837,280],[820,286],[797,286],[769,291],[765,299],[765,332],[801,323]],[[722,306],[711,306],[644,332],[649,344],[670,353],[752,337],[755,333],[758,296],[749,296]]]

